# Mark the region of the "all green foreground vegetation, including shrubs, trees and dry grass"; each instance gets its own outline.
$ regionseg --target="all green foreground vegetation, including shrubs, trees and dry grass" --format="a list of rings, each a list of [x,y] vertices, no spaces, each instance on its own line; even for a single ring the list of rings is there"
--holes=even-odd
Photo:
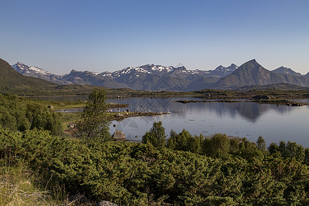
[[[253,144],[187,130],[168,137],[161,122],[143,143],[111,141],[101,90],[67,138],[42,102],[0,100],[1,205],[309,204],[309,148],[295,142],[267,148],[263,137]]]

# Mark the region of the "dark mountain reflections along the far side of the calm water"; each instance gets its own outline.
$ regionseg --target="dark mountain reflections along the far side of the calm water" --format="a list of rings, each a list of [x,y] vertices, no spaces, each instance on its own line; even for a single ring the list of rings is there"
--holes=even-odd
[[[192,100],[192,98],[183,99]],[[248,122],[253,123],[257,122],[259,117],[266,112],[275,111],[279,114],[286,114],[293,109],[290,106],[276,106],[275,104],[258,104],[254,102],[198,102],[182,104],[174,102],[175,100],[179,100],[179,98],[128,98],[118,100],[117,103],[129,104],[128,108],[130,111],[178,112],[176,115],[179,117],[184,117],[186,113],[192,113],[196,117],[215,113],[219,117],[230,116],[232,119],[236,119],[240,115]]]

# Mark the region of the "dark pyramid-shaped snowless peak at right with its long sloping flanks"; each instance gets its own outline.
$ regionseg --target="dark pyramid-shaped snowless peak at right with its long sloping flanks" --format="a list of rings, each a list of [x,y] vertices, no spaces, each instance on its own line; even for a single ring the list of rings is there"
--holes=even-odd
[[[309,87],[309,78],[275,73],[264,69],[255,59],[245,62],[229,76],[218,80],[210,87],[216,89],[236,89],[248,85],[268,85],[288,83]]]

